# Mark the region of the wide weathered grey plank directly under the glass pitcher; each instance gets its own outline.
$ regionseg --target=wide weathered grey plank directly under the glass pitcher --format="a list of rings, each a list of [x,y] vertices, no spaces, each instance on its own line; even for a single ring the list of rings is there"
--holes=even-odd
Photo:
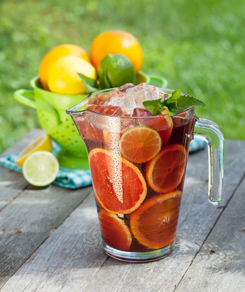
[[[245,172],[245,142],[228,141],[224,202]],[[190,156],[175,252],[151,263],[123,263],[102,252],[97,214],[89,198],[6,283],[2,292],[174,291],[223,207],[207,199],[207,152]]]

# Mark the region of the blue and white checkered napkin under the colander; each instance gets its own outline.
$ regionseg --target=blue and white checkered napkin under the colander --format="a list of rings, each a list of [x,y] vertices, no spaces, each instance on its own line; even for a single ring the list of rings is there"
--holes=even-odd
[[[53,154],[56,156],[61,149],[61,147],[52,141],[53,144]],[[206,146],[206,142],[194,139],[190,144],[190,152],[198,151]],[[22,168],[15,163],[18,153],[11,154],[7,157],[0,158],[0,165],[22,172]],[[79,188],[81,186],[87,186],[92,184],[90,170],[85,169],[68,169],[65,167],[60,167],[56,180],[53,182],[62,187],[66,188]]]

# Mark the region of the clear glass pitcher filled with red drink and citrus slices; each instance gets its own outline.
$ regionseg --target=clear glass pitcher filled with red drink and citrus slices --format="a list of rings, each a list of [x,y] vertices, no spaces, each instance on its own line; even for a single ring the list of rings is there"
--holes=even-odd
[[[124,261],[157,260],[174,248],[193,137],[208,143],[209,200],[221,202],[224,136],[215,123],[197,118],[194,107],[174,117],[87,109],[111,90],[88,95],[67,113],[88,150],[105,253]]]

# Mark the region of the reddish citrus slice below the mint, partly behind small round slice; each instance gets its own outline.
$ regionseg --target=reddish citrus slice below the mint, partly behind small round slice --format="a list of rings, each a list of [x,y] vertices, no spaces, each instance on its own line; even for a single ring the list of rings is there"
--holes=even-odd
[[[162,147],[168,143],[173,130],[173,120],[167,110],[162,111],[158,116],[149,118],[148,120],[146,119],[142,124],[158,131],[161,137]]]

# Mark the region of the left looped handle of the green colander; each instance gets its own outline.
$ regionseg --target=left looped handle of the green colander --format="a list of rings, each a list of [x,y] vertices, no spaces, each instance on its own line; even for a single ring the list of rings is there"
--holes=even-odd
[[[14,98],[18,102],[22,103],[23,105],[28,106],[30,108],[33,108],[35,110],[47,110],[47,111],[55,114],[55,116],[59,120],[59,117],[58,117],[56,110],[54,110],[52,107],[41,105],[38,102],[36,102],[35,100],[33,100],[34,91],[32,91],[32,90],[19,89],[19,90],[15,91]]]

